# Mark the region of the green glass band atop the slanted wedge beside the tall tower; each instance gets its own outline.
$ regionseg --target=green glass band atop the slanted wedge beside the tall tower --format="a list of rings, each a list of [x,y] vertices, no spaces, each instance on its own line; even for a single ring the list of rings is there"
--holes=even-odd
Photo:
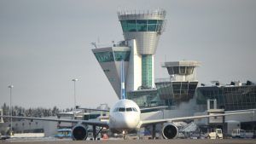
[[[129,61],[131,51],[106,51],[94,53],[99,62]]]

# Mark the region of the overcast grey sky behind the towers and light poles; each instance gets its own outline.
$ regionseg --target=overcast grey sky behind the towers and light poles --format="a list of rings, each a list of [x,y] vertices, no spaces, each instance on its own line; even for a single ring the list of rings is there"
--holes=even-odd
[[[199,60],[200,83],[256,81],[255,0],[1,0],[0,105],[96,107],[118,101],[91,49],[91,42],[123,40],[117,11],[166,9],[166,32],[155,55],[160,63]]]

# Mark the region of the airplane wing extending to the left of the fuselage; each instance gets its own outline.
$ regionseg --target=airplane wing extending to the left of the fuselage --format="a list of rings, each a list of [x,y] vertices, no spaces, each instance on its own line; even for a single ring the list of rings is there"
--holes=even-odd
[[[42,121],[52,121],[52,122],[65,122],[65,123],[77,123],[77,124],[88,124],[96,125],[100,127],[108,127],[108,122],[106,121],[92,121],[92,120],[79,120],[79,119],[65,119],[65,118],[33,118],[33,117],[18,117],[18,116],[0,116],[0,118],[20,118],[29,120],[42,120]]]

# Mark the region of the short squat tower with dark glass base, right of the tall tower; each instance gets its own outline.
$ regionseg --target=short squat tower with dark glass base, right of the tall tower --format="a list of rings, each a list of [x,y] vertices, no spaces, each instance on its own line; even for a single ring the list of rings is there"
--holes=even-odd
[[[168,106],[178,106],[180,103],[194,98],[198,80],[196,67],[201,62],[195,60],[166,61],[162,67],[166,68],[170,78],[159,78],[155,85],[159,90],[160,99]]]

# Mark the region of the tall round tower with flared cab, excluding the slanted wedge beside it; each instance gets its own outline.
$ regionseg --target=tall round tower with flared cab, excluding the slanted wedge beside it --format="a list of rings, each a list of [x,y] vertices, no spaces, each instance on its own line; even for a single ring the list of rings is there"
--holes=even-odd
[[[154,54],[164,30],[166,11],[118,13],[125,41],[135,39],[137,47],[137,63],[141,63],[142,89],[154,87]],[[139,61],[140,60],[140,61]]]

